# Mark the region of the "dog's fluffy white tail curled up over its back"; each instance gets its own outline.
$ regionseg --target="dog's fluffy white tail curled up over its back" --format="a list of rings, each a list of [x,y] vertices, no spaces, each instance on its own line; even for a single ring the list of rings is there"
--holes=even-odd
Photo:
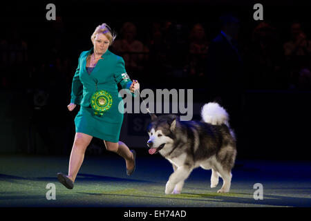
[[[225,108],[216,102],[209,102],[202,106],[201,117],[206,123],[213,125],[226,124],[229,127],[229,114]]]

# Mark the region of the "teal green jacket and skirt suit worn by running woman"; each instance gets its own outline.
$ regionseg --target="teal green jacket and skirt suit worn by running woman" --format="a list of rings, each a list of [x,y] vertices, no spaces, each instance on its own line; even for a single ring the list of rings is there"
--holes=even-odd
[[[124,104],[117,90],[120,83],[123,89],[129,93],[132,84],[129,75],[126,74],[122,57],[106,50],[102,59],[91,74],[86,70],[86,57],[93,53],[93,48],[83,51],[79,56],[77,70],[73,77],[71,103],[80,104],[81,108],[75,117],[76,133],[86,133],[93,137],[110,142],[118,142],[123,122]],[[112,97],[112,105],[102,116],[94,114],[91,108],[91,97],[97,90],[106,90]],[[136,97],[134,93],[131,93]],[[120,103],[121,102],[121,103]],[[121,112],[118,106],[121,106]]]

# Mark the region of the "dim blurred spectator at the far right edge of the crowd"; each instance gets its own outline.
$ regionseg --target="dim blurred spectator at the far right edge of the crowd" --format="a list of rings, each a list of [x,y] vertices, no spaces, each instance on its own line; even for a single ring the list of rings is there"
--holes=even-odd
[[[290,28],[291,39],[283,45],[290,88],[310,88],[311,41],[301,29],[301,23],[294,22]]]

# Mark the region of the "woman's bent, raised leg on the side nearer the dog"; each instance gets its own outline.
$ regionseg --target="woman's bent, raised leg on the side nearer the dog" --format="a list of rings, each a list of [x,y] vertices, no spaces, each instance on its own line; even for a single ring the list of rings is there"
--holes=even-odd
[[[129,147],[124,144],[124,142],[109,142],[104,140],[104,144],[108,151],[112,151],[122,156],[126,161],[126,169],[131,170],[134,168],[134,156],[133,153],[129,150]]]

